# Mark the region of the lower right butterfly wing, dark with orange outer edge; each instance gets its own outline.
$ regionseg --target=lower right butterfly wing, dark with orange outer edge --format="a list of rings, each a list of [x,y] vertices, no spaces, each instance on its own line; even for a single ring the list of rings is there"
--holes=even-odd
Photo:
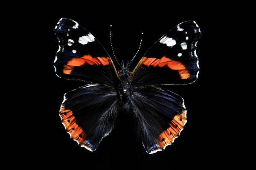
[[[172,144],[186,124],[184,100],[155,86],[137,88],[131,95],[138,132],[147,153],[162,151]]]

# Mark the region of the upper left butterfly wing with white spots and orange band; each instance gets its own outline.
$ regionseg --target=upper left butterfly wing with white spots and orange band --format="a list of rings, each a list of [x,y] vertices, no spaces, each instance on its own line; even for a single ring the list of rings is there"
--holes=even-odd
[[[61,18],[54,33],[59,49],[55,73],[65,79],[114,85],[119,81],[115,66],[96,38],[76,21]]]

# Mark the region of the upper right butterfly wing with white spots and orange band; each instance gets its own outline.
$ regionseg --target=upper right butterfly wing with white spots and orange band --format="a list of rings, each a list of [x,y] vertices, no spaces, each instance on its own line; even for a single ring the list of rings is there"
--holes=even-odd
[[[196,44],[201,31],[195,21],[180,23],[146,52],[131,74],[140,85],[189,84],[199,73]]]

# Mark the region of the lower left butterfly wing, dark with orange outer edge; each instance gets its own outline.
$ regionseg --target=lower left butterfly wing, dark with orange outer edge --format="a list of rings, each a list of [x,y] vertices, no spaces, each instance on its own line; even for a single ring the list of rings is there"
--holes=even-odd
[[[71,138],[94,151],[113,129],[117,110],[113,87],[90,84],[65,94],[59,114]]]

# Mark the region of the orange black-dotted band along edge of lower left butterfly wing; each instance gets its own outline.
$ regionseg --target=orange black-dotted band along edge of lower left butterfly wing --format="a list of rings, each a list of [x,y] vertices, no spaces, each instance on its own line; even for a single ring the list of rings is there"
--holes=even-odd
[[[64,105],[61,105],[60,116],[62,123],[64,124],[67,132],[70,133],[70,136],[80,144],[85,144],[86,133],[81,127],[79,127],[79,125],[76,124],[73,112],[66,110]]]

